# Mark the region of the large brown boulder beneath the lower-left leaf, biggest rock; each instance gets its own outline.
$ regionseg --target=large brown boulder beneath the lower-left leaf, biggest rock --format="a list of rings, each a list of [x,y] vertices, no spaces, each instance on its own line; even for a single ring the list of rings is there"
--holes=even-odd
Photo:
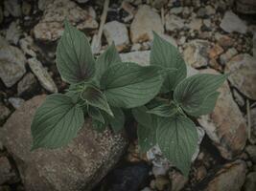
[[[26,190],[90,190],[113,167],[127,141],[109,131],[97,133],[90,120],[66,147],[31,152],[31,121],[45,96],[35,96],[6,122],[2,136]]]

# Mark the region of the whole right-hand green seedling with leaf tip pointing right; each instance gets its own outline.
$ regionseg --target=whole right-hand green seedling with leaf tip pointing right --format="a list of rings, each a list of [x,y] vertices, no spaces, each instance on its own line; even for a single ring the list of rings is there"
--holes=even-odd
[[[165,75],[161,92],[148,104],[132,109],[138,122],[139,148],[147,152],[158,145],[163,155],[188,175],[198,145],[196,124],[190,117],[209,114],[219,96],[223,74],[195,74],[187,77],[186,64],[176,48],[153,33],[151,65],[175,73]]]

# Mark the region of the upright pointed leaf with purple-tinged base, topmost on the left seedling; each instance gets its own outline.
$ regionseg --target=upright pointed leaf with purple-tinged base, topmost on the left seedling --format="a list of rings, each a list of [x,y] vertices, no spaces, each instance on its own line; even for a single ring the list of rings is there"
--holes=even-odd
[[[57,67],[68,83],[88,81],[95,73],[95,60],[84,33],[65,20],[65,30],[58,41]]]

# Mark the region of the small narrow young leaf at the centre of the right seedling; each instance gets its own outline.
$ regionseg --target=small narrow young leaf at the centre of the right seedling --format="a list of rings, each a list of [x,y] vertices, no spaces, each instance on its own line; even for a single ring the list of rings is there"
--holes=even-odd
[[[165,103],[152,108],[148,113],[158,117],[172,117],[177,113],[177,108],[175,104]]]

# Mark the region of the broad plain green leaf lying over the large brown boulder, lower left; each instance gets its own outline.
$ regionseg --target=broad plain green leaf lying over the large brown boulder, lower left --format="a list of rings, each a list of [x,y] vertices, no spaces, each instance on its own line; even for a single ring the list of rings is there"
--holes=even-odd
[[[32,150],[66,145],[77,136],[83,122],[81,108],[69,96],[47,96],[32,121]]]

